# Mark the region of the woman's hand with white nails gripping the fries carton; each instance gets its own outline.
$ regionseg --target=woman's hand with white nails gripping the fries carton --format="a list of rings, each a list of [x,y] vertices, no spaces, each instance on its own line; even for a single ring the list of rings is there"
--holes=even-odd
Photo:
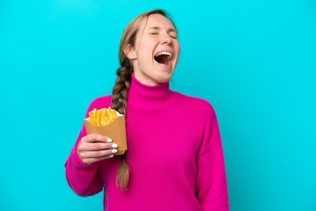
[[[91,165],[96,161],[113,157],[117,147],[118,145],[112,143],[111,138],[93,133],[81,138],[77,153],[82,163]]]

